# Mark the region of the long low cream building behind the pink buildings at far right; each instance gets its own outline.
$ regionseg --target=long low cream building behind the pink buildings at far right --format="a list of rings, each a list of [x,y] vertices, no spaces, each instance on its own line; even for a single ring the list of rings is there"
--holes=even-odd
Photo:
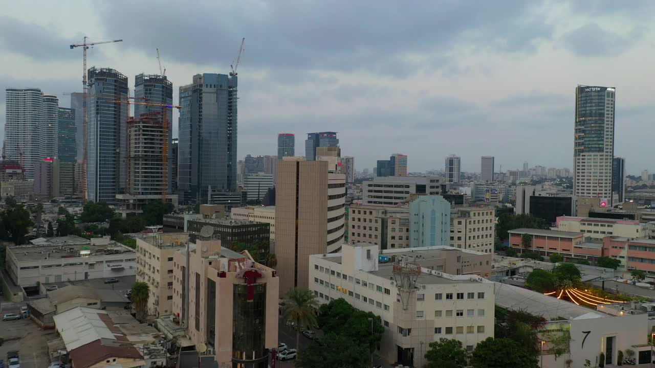
[[[589,238],[602,239],[605,236],[647,238],[646,224],[637,220],[599,219],[593,217],[557,217],[557,230],[580,232]]]

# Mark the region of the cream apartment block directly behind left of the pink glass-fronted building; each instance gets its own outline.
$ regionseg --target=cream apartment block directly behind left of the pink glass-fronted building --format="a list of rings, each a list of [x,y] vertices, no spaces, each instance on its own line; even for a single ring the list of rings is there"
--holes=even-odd
[[[173,256],[189,242],[186,232],[144,234],[136,238],[136,281],[150,287],[148,314],[159,317],[173,312]]]

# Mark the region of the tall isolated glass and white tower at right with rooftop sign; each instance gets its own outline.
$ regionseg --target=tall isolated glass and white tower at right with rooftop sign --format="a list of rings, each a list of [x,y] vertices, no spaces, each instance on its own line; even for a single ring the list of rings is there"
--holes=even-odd
[[[615,93],[610,87],[576,87],[573,193],[607,206],[612,205]]]

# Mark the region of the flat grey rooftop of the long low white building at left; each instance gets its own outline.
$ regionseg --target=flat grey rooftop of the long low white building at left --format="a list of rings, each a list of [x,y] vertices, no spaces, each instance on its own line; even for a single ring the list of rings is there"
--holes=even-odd
[[[134,253],[134,249],[113,240],[109,240],[107,244],[91,244],[90,240],[73,235],[38,238],[31,240],[31,243],[12,246],[9,249],[20,262],[75,258],[81,257],[81,253],[87,251],[89,257]]]

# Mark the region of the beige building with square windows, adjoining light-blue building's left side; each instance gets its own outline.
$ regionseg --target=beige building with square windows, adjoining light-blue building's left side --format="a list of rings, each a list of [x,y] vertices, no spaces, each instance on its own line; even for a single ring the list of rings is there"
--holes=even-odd
[[[381,250],[409,248],[409,206],[351,204],[347,225],[350,244],[374,244]]]

